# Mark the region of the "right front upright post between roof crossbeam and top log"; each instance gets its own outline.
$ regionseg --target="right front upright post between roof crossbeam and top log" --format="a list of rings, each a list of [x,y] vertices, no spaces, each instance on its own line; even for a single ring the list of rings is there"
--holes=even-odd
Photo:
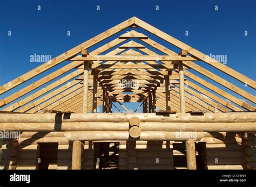
[[[183,62],[179,61],[178,66],[179,66],[180,113],[186,113]]]

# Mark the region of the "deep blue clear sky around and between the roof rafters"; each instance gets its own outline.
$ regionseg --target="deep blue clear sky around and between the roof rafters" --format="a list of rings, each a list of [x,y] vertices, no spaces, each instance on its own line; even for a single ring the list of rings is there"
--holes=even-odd
[[[36,53],[56,57],[133,16],[146,21],[207,55],[210,53],[227,55],[226,65],[228,67],[255,80],[255,2],[255,0],[2,0],[0,2],[0,85],[14,80],[14,78],[42,64],[31,63],[30,55]],[[41,11],[37,10],[38,5],[41,5]],[[100,6],[100,11],[96,10],[97,5]],[[156,11],[156,5],[159,6],[159,11]],[[215,5],[218,5],[218,11],[214,10]],[[114,37],[93,46],[90,50],[106,44],[106,42],[129,30],[131,29],[127,28],[121,31]],[[8,31],[11,31],[11,36],[8,36]],[[67,31],[71,32],[70,36],[67,36]],[[185,31],[189,32],[188,36],[185,35]],[[247,36],[244,35],[245,31],[248,32]],[[170,47],[173,51],[179,52],[179,50],[171,47],[167,42],[157,39],[152,34],[143,33],[160,44]],[[234,80],[234,78],[221,73],[204,62],[197,63],[255,95],[255,90],[244,87],[244,84]],[[0,98],[5,98],[25,85],[29,85],[38,78],[57,70],[64,64],[66,62],[12,89]],[[192,70],[191,72],[197,74]],[[215,84],[208,78],[205,78],[205,80]],[[219,88],[233,94],[232,91],[224,87],[219,86]],[[235,93],[234,96],[244,99]],[[138,105],[125,104],[133,111]]]

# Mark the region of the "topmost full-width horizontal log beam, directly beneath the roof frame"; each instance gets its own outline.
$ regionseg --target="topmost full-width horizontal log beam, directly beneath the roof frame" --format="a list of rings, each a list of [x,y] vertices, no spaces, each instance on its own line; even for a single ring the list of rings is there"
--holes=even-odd
[[[172,123],[255,123],[254,112],[228,112],[228,113],[204,113],[197,116],[190,113],[170,114],[169,116],[158,116],[156,113],[72,113],[65,114],[17,114],[0,113],[0,123],[65,123],[65,122],[129,122],[131,117],[136,116],[142,122],[172,122]]]

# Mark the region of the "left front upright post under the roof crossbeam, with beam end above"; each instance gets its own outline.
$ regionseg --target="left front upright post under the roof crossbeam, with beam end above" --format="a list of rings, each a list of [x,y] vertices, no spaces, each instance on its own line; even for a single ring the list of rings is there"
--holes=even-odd
[[[82,56],[87,56],[88,52],[86,49],[82,49],[81,51]],[[84,62],[84,93],[83,93],[83,113],[87,113],[87,106],[88,106],[88,78],[89,78],[89,62]]]

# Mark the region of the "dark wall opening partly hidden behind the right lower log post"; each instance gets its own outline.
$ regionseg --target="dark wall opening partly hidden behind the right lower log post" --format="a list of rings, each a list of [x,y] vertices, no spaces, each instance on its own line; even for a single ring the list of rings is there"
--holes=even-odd
[[[206,142],[195,142],[197,169],[207,169]],[[173,143],[174,169],[187,169],[185,142]]]

